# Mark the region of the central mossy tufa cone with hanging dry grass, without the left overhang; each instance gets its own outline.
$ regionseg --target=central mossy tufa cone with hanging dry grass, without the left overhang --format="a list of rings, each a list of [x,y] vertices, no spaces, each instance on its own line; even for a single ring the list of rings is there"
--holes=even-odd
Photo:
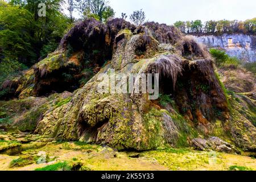
[[[175,28],[171,27],[170,32],[162,36],[147,27],[119,31],[113,42],[112,61],[83,88],[76,90],[68,104],[46,114],[35,133],[108,144],[118,149],[149,150],[177,146],[181,138],[193,135],[188,121],[178,123],[183,118],[178,119],[179,112],[189,115],[188,120],[195,125],[205,126],[217,117],[214,109],[217,108],[221,116],[227,115],[226,97],[208,52],[195,40],[177,36],[171,30]],[[161,40],[175,44],[164,46]],[[99,93],[97,88],[102,84],[99,76],[109,73],[111,68],[115,68],[114,75],[159,73],[161,94],[171,95],[179,111],[171,109],[174,106],[170,104],[167,109],[158,101],[148,100],[148,93],[136,93],[135,86],[141,86],[139,78],[135,78],[130,94]],[[108,85],[108,81],[103,84]],[[205,85],[206,89],[199,85]],[[193,102],[197,105],[192,106]]]

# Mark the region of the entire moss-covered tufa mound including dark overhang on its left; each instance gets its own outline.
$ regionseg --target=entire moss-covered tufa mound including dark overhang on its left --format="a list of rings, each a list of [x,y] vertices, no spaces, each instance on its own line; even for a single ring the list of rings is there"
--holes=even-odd
[[[98,76],[110,69],[125,75],[159,73],[160,98],[147,100],[148,93],[134,89],[131,94],[99,93]],[[135,78],[135,86],[140,84]],[[9,91],[5,98],[20,99],[75,90],[67,102],[47,107],[37,118],[34,132],[44,137],[151,150],[188,146],[198,135],[214,135],[243,150],[256,149],[256,128],[249,119],[233,117],[207,50],[165,24],[136,28],[122,19],[85,20],[64,36],[59,49],[5,81],[2,89]],[[163,104],[164,96],[168,102]]]

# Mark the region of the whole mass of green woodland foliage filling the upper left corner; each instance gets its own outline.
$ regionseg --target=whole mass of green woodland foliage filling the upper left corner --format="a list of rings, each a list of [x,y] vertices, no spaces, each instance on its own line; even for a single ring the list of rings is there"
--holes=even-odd
[[[11,0],[3,3],[4,6],[0,6],[0,57],[31,66],[39,57],[54,51],[68,27],[68,18],[60,12],[61,2]],[[38,16],[39,3],[46,3],[46,17]]]

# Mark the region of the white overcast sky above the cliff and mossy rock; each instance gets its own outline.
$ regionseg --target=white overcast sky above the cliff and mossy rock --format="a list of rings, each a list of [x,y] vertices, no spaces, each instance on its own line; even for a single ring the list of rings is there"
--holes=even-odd
[[[143,9],[146,19],[173,24],[177,20],[246,20],[256,17],[256,0],[109,0],[115,16]],[[129,17],[128,17],[129,19]]]

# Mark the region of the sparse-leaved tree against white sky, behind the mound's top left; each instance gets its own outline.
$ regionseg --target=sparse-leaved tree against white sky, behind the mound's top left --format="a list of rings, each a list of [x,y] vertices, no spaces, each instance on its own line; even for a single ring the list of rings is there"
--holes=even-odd
[[[105,0],[76,0],[77,10],[83,18],[95,18],[106,22],[108,18],[115,15],[109,2]]]

